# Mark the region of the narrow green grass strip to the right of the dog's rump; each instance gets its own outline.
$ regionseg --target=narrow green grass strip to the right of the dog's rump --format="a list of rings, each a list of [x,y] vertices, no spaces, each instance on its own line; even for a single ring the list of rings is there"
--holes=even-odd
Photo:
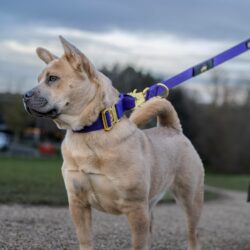
[[[228,190],[247,191],[250,175],[218,175],[206,174],[205,183],[209,186]]]

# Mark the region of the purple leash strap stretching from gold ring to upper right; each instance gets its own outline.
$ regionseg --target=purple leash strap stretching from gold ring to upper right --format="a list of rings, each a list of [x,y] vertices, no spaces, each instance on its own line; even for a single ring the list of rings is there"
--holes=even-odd
[[[248,51],[249,49],[250,39],[241,42],[240,44],[218,54],[217,56],[212,57],[202,63],[199,63],[196,66],[191,67],[168,80],[162,81],[161,83],[164,84],[168,89],[171,89],[190,78],[193,78],[212,68],[217,67],[218,65]],[[162,95],[165,90],[166,89],[160,86],[159,84],[154,84],[147,90],[145,94],[145,100],[147,101],[152,97]]]

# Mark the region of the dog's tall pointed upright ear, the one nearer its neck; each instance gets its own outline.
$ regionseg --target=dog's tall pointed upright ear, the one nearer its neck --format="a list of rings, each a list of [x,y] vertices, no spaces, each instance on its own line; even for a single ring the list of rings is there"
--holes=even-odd
[[[64,55],[72,67],[79,72],[86,72],[89,78],[96,76],[96,69],[90,60],[74,45],[69,43],[65,38],[59,36],[64,48]]]

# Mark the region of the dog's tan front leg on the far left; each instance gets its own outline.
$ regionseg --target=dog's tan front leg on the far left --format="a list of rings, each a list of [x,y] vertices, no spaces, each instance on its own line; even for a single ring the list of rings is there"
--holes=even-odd
[[[80,250],[92,250],[91,207],[84,206],[77,198],[70,198],[69,208],[76,227]]]

